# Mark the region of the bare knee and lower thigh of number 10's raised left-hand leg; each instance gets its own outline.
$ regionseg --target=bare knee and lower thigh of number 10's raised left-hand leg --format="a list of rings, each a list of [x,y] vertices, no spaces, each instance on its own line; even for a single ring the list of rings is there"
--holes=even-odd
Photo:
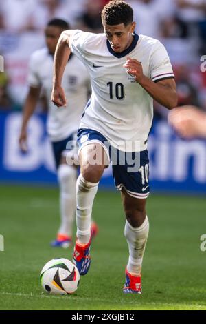
[[[100,181],[107,166],[107,154],[100,143],[89,143],[80,150],[80,171],[86,181]]]

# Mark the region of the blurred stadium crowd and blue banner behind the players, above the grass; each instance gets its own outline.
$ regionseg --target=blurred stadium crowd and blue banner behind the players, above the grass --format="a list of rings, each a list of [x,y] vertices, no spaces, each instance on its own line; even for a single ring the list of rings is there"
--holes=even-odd
[[[137,32],[161,39],[176,74],[179,105],[194,104],[206,110],[206,73],[201,57],[206,54],[206,10],[185,8],[178,0],[130,1]],[[191,4],[201,1],[190,0]],[[5,72],[0,74],[1,164],[0,181],[55,184],[54,162],[45,135],[47,103],[42,99],[30,123],[30,152],[19,152],[17,139],[21,109],[27,93],[30,54],[44,46],[43,30],[52,17],[67,19],[73,28],[102,32],[103,0],[8,0],[0,4],[0,54]],[[205,3],[205,1],[203,1]],[[206,6],[206,4],[205,4]],[[168,127],[168,110],[155,103],[155,123],[150,135],[152,192],[206,192],[206,143],[183,141]],[[113,188],[111,172],[102,184]]]

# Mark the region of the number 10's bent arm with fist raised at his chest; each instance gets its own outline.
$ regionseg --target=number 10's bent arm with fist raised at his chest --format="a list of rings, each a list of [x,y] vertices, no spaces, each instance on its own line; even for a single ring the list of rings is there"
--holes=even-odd
[[[150,96],[168,109],[175,108],[177,105],[176,83],[174,78],[164,79],[156,83],[143,73],[141,62],[137,59],[128,57],[124,68],[127,72],[135,76],[136,82],[141,85]]]

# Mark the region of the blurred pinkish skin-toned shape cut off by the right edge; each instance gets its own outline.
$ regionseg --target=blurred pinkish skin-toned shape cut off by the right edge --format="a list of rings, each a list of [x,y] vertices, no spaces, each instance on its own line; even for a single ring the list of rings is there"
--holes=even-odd
[[[176,107],[169,112],[168,122],[184,139],[206,138],[206,112],[194,105]]]

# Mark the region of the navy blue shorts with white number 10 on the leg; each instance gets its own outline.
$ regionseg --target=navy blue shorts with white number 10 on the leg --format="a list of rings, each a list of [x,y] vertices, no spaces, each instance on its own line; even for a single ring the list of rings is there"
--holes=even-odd
[[[112,164],[113,179],[117,190],[124,190],[138,199],[146,199],[150,194],[148,150],[122,152],[109,144],[100,133],[91,129],[80,129],[77,134],[80,150],[89,143],[100,143],[108,161]]]

